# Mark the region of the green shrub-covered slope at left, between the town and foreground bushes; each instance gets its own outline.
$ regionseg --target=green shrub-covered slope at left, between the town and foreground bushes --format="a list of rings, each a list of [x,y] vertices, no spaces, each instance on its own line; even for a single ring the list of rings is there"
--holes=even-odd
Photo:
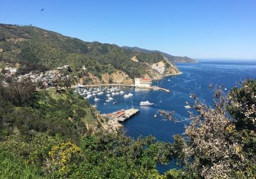
[[[97,128],[94,109],[77,93],[69,89],[62,93],[34,91],[30,84],[22,81],[0,85],[1,137],[45,132],[78,143],[87,131],[86,125]]]

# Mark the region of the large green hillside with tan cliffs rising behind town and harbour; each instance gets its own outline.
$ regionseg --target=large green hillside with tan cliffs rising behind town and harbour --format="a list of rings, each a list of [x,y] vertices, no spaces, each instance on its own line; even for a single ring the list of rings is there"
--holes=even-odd
[[[49,70],[70,65],[72,75],[89,83],[131,83],[134,77],[159,79],[161,75],[179,73],[177,66],[159,52],[138,54],[117,45],[83,42],[34,26],[7,24],[0,24],[0,61],[13,66],[43,65]],[[164,74],[151,68],[159,61],[166,65]],[[122,74],[122,79],[116,81],[116,74]]]

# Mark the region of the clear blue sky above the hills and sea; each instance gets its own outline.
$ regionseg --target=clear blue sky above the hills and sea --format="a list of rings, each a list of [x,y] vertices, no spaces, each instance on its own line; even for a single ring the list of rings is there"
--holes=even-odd
[[[0,0],[0,23],[175,56],[256,58],[255,0]]]

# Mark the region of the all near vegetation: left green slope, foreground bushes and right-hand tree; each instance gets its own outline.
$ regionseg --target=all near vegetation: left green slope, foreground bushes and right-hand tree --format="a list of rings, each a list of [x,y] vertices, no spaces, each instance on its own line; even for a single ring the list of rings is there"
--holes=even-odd
[[[227,95],[214,89],[214,107],[193,95],[184,134],[164,143],[104,130],[68,89],[0,84],[0,178],[255,178],[255,93],[248,79]],[[156,164],[170,162],[159,174]]]

